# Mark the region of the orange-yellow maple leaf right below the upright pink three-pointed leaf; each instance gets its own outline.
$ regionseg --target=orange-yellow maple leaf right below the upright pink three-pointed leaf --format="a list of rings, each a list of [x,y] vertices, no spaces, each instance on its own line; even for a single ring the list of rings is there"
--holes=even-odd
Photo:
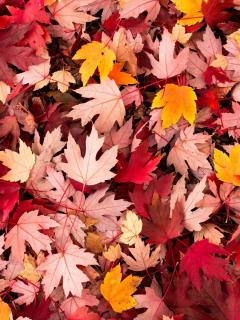
[[[192,88],[166,84],[165,88],[160,90],[153,99],[152,109],[163,107],[163,129],[176,124],[181,115],[193,125],[197,112],[195,100],[197,96]]]

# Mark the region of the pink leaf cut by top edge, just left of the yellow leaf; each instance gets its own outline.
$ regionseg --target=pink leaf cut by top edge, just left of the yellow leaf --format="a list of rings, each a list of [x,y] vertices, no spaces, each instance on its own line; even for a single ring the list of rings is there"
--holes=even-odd
[[[132,0],[124,1],[123,9],[120,11],[121,18],[137,18],[143,11],[148,11],[145,21],[155,20],[160,10],[158,0]]]

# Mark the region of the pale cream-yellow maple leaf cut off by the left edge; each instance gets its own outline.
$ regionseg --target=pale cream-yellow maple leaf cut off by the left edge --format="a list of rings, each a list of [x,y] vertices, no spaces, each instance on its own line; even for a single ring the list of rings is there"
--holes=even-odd
[[[7,181],[27,181],[31,169],[35,163],[35,154],[32,153],[30,147],[19,139],[19,153],[6,149],[0,151],[0,161],[11,169],[2,180]]]

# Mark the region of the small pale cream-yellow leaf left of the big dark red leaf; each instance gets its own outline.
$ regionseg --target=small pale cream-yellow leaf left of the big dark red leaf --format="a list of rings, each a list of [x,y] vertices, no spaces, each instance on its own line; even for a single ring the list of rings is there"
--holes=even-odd
[[[142,220],[138,219],[136,213],[130,210],[127,210],[126,219],[121,224],[123,234],[119,240],[131,246],[136,242],[139,233],[142,231]]]

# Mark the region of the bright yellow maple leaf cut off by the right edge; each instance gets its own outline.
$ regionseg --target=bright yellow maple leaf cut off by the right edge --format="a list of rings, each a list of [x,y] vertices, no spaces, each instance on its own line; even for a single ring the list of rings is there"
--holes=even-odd
[[[214,149],[214,167],[219,180],[240,186],[240,145],[236,145],[226,153]]]

